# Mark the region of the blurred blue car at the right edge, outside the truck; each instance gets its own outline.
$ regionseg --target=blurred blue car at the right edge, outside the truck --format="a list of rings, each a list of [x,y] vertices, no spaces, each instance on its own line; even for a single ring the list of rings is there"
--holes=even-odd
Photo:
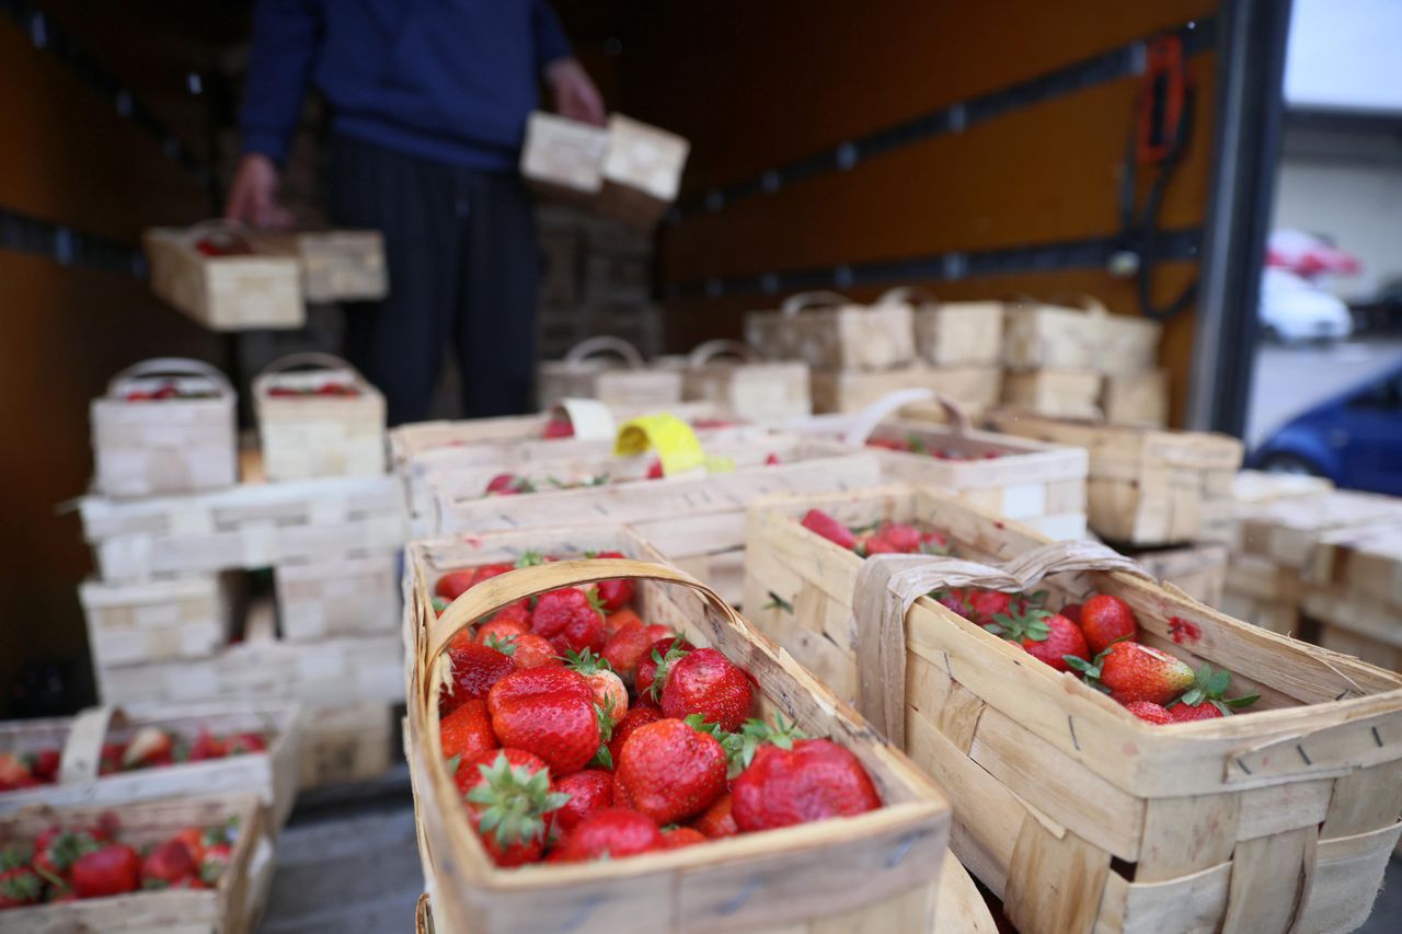
[[[1402,367],[1297,415],[1252,452],[1248,466],[1402,495]]]

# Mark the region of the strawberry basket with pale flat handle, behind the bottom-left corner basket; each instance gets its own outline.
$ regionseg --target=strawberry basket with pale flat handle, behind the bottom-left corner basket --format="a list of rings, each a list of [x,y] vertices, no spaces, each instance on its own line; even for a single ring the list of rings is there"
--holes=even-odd
[[[300,715],[269,701],[93,707],[0,724],[0,812],[251,794],[276,833],[297,791]]]

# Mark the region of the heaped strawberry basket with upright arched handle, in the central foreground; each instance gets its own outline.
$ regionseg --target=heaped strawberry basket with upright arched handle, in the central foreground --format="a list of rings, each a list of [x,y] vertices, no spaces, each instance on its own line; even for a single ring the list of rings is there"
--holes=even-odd
[[[928,930],[938,790],[714,592],[624,553],[660,561],[606,529],[411,548],[408,743],[440,923]]]

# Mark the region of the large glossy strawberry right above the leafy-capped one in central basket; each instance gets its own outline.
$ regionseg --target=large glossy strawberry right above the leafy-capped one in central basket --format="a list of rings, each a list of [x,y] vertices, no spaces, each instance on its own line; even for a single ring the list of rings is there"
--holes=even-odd
[[[502,746],[540,756],[559,776],[579,771],[599,752],[593,689],[568,668],[512,672],[486,697]]]

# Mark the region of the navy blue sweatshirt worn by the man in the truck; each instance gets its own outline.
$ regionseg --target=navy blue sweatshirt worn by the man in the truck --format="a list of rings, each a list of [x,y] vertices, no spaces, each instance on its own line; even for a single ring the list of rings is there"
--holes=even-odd
[[[547,0],[259,0],[244,151],[282,164],[314,81],[334,132],[509,171],[541,69],[569,53]]]

